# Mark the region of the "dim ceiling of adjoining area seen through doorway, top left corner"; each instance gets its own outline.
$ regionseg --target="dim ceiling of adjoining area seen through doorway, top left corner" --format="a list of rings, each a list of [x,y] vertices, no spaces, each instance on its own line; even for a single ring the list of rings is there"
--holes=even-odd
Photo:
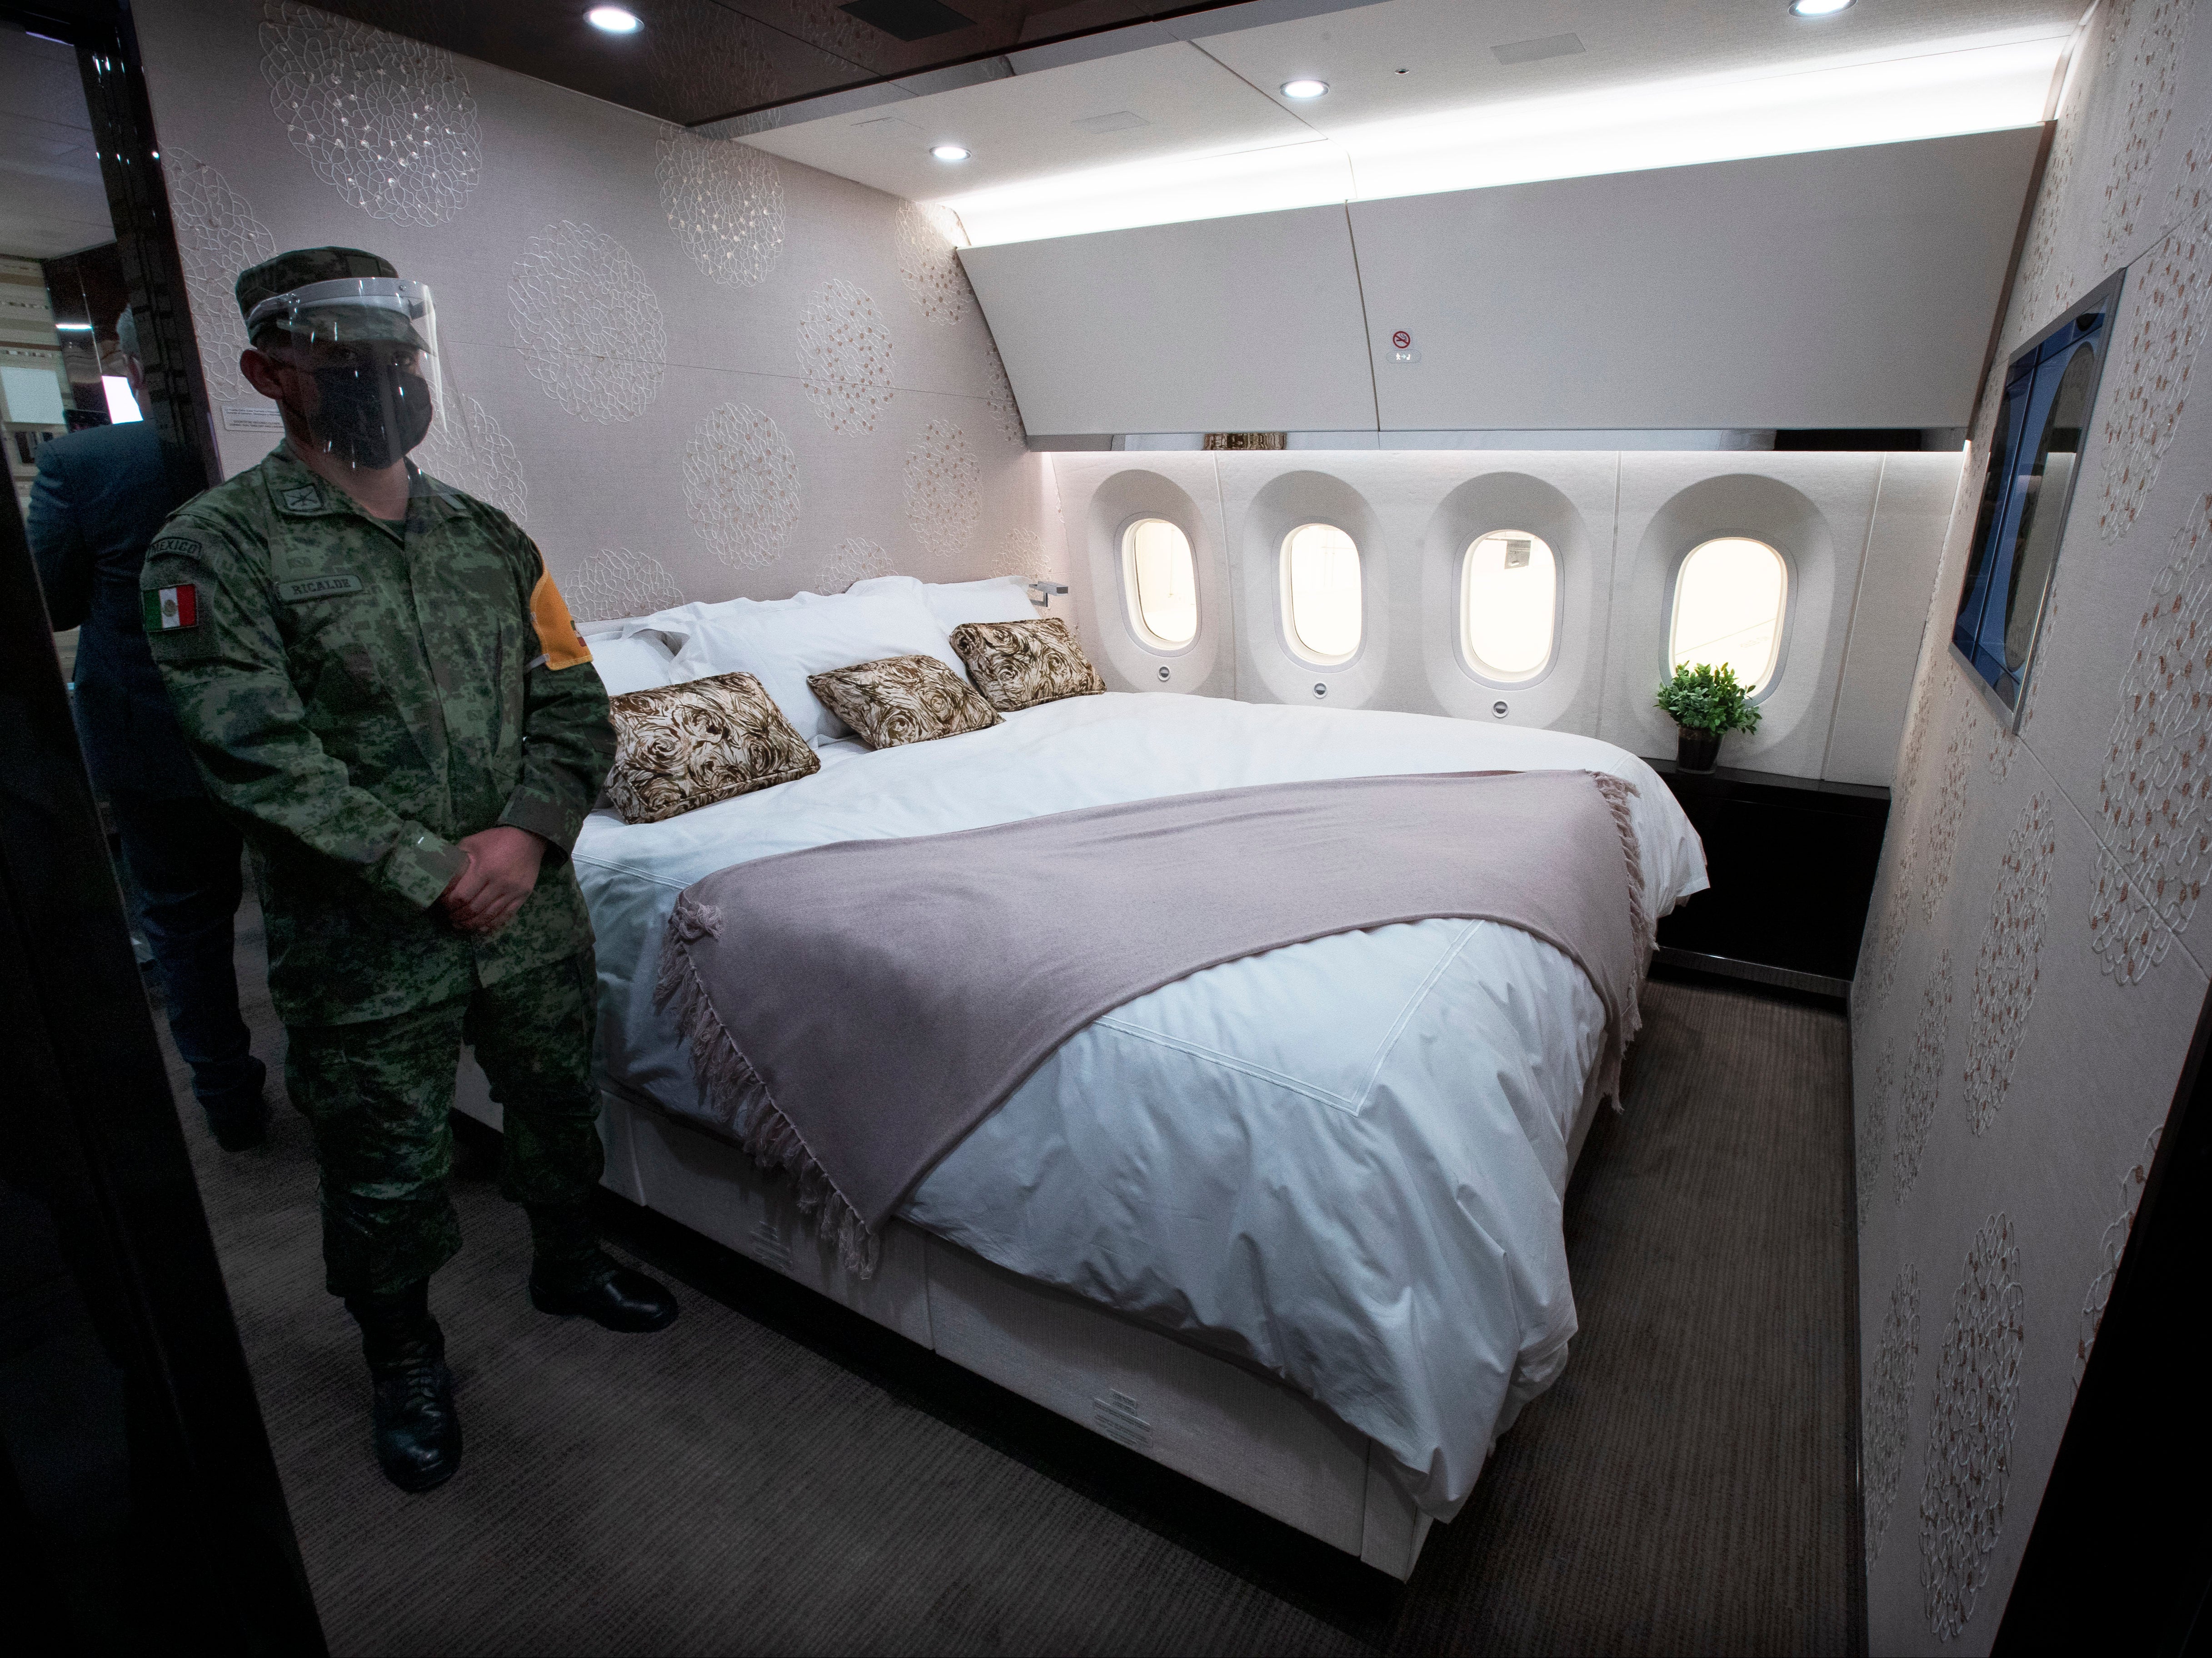
[[[77,53],[0,33],[0,254],[58,259],[115,241]]]

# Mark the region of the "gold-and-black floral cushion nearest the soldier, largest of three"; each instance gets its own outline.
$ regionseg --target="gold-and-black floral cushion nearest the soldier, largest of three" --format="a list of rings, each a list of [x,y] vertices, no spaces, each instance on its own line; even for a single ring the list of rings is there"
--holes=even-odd
[[[752,674],[655,685],[608,707],[615,769],[606,798],[624,822],[659,822],[823,769]]]

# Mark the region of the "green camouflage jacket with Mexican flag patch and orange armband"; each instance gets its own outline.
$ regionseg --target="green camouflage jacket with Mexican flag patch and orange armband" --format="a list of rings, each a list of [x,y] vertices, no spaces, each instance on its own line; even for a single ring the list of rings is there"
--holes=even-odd
[[[613,760],[606,688],[515,524],[409,469],[407,528],[283,444],[146,553],[148,646],[257,853],[285,1024],[387,1019],[591,942],[568,849]],[[436,906],[493,825],[546,838],[489,937]]]

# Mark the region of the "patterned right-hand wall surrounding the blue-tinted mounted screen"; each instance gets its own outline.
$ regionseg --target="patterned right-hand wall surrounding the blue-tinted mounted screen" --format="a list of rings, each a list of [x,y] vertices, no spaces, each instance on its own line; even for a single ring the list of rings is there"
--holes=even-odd
[[[2002,327],[2011,351],[2128,267],[2022,730],[1947,652],[1984,407],[1898,752],[1851,1008],[1874,1651],[1995,1636],[2212,964],[2192,933],[2212,873],[2194,11],[2097,7]]]

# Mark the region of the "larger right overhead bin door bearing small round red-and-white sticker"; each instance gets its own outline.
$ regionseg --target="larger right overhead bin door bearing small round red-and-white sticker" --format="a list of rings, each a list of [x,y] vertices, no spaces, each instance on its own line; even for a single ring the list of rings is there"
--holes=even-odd
[[[1358,201],[1380,427],[1964,424],[2037,144]]]

